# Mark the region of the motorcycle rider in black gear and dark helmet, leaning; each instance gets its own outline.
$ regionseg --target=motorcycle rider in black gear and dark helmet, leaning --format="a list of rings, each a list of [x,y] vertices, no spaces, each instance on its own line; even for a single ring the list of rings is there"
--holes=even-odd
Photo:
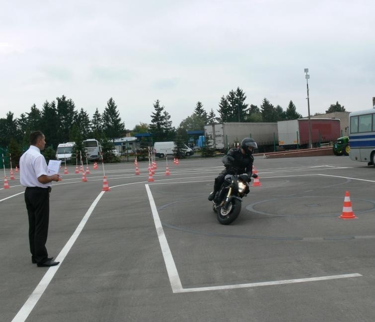
[[[251,137],[245,137],[238,148],[231,148],[222,159],[225,169],[215,178],[214,191],[210,193],[208,199],[214,200],[216,193],[220,190],[225,176],[228,174],[247,174],[247,181],[250,182],[253,171],[254,156],[253,151],[258,145]],[[215,201],[215,200],[214,200]]]

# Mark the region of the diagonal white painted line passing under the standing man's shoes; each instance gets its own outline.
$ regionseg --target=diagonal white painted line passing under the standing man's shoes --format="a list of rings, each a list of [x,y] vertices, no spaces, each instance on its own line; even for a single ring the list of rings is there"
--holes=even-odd
[[[92,211],[94,210],[96,204],[99,202],[100,198],[105,192],[102,191],[98,194],[96,199],[91,203],[90,207],[88,208],[86,214],[83,216],[82,220],[78,224],[75,232],[65,244],[64,248],[61,250],[60,254],[56,257],[56,261],[60,261],[60,264],[57,266],[50,267],[47,272],[44,274],[43,278],[35,288],[35,290],[31,293],[25,304],[22,308],[18,311],[16,316],[13,318],[12,322],[24,322],[35,305],[38,303],[39,299],[43,295],[44,291],[46,290],[47,286],[50,284],[52,278],[55,276],[57,270],[59,269],[60,265],[63,263],[65,257],[68,255],[69,251],[71,250],[72,246],[74,245],[76,239],[78,238],[79,234],[81,233],[84,225],[86,224],[88,218],[90,217]]]

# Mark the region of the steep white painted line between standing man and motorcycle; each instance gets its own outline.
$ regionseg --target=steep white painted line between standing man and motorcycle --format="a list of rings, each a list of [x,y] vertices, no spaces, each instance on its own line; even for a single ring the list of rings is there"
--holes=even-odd
[[[157,237],[159,238],[161,253],[163,254],[165,266],[166,266],[168,277],[169,277],[170,286],[172,287],[173,293],[177,293],[178,291],[182,290],[181,280],[180,280],[180,277],[178,276],[178,271],[174,263],[172,253],[169,249],[169,245],[164,234],[163,226],[161,225],[159,214],[157,213],[155,201],[153,200],[150,187],[149,185],[145,185],[145,186],[146,186],[147,194],[149,196],[149,201],[150,201],[150,206],[151,206],[151,211],[152,211],[152,218],[153,218],[153,222],[155,223]]]

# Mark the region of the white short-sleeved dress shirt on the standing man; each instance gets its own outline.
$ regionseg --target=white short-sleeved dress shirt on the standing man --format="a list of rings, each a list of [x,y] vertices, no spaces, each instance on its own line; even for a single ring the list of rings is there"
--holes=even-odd
[[[19,171],[22,186],[41,188],[52,186],[51,182],[42,184],[38,181],[40,176],[48,176],[48,167],[46,159],[34,145],[30,145],[29,149],[19,159]]]

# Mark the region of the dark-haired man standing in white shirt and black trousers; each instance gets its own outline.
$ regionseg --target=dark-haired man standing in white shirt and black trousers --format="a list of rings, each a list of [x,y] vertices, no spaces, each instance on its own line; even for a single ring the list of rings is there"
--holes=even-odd
[[[59,181],[59,175],[48,176],[47,163],[40,153],[46,145],[41,131],[30,133],[30,147],[19,160],[21,185],[26,187],[25,203],[29,217],[29,243],[31,261],[38,267],[59,264],[48,257],[46,249],[50,216],[50,192],[52,181]]]

